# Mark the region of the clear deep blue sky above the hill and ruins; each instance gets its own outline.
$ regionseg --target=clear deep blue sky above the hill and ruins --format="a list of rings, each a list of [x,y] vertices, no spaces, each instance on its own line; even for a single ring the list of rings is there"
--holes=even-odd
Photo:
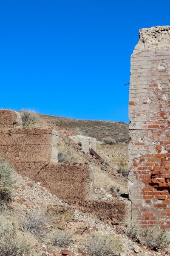
[[[0,0],[0,108],[128,122],[130,55],[169,0]]]

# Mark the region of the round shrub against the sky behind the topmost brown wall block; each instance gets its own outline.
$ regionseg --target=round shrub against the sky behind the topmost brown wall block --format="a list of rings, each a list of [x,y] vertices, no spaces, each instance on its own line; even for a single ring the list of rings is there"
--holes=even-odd
[[[23,127],[25,128],[34,127],[38,122],[36,113],[34,111],[29,111],[26,109],[23,109],[21,113],[21,119],[23,122]]]

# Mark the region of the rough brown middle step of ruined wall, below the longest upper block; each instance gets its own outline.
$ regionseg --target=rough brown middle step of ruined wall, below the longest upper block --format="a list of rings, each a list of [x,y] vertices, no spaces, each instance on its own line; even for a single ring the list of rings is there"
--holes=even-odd
[[[84,200],[94,192],[93,169],[87,164],[15,161],[12,166],[70,202]]]

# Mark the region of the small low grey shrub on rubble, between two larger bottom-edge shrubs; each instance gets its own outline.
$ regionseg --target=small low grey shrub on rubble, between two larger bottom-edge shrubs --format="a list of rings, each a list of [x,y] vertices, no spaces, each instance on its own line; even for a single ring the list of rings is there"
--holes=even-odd
[[[57,229],[54,233],[53,245],[55,246],[67,246],[71,243],[72,236],[64,230]]]

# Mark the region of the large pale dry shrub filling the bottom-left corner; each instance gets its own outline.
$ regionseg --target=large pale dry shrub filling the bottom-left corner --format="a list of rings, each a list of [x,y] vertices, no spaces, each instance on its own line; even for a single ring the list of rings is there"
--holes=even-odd
[[[28,233],[21,232],[13,222],[0,221],[0,256],[28,255],[34,239]]]

